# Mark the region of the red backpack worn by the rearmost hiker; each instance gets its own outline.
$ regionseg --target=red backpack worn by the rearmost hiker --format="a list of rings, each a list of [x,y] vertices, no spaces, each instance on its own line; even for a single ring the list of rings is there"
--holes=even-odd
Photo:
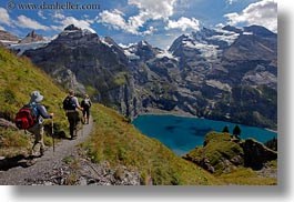
[[[38,109],[36,104],[23,105],[16,115],[14,122],[19,129],[30,129],[37,123]]]

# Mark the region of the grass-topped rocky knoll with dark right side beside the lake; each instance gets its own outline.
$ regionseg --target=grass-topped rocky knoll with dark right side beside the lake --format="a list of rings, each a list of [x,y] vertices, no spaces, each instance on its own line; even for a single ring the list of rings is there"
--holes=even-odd
[[[253,139],[239,142],[229,133],[211,132],[204,142],[203,147],[195,148],[183,159],[211,173],[227,173],[241,166],[262,170],[267,162],[277,159],[277,152]]]

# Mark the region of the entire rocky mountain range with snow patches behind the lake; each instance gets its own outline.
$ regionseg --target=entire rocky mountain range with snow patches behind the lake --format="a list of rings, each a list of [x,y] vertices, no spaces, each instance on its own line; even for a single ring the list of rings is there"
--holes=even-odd
[[[275,129],[276,38],[256,26],[203,28],[164,51],[146,41],[122,48],[70,26],[24,54],[65,88],[129,117],[159,109]]]

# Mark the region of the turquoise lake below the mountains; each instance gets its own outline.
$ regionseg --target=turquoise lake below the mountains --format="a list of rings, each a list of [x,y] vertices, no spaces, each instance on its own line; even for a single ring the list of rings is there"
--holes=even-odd
[[[132,122],[143,134],[155,138],[178,155],[202,145],[210,131],[221,132],[225,125],[233,132],[235,123],[176,115],[140,115]],[[241,139],[253,138],[260,142],[277,137],[277,133],[256,127],[239,124]]]

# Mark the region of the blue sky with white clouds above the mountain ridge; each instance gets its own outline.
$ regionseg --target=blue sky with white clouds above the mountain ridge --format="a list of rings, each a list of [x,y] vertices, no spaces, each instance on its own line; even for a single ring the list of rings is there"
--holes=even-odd
[[[21,9],[31,3],[34,9]],[[67,6],[68,3],[68,6]],[[70,9],[70,6],[71,7]],[[75,9],[75,4],[91,7]],[[61,7],[64,6],[63,9]],[[57,8],[59,7],[59,8]],[[260,24],[277,32],[277,0],[9,0],[0,2],[0,29],[24,37],[53,37],[70,23],[118,43],[146,40],[166,49],[202,27]]]

